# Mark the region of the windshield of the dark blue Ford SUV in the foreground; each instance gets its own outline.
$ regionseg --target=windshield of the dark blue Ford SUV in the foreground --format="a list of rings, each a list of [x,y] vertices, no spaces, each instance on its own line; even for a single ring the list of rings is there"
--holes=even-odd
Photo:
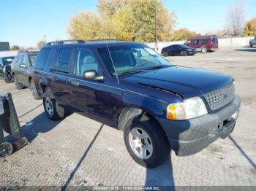
[[[108,47],[99,47],[97,50],[112,75],[171,66],[165,58],[143,44],[109,46],[109,51]]]

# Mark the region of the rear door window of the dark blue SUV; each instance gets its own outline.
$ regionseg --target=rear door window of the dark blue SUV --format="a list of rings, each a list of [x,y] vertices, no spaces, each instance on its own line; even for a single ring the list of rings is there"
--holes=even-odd
[[[72,53],[71,48],[61,48],[59,54],[56,53],[53,59],[53,71],[59,71],[63,73],[69,73],[69,60]]]

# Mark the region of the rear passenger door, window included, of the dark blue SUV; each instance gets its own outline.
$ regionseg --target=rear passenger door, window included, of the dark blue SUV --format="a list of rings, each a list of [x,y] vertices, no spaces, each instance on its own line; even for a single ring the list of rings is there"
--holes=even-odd
[[[69,77],[70,77],[70,62],[73,49],[63,47],[56,49],[50,66],[51,74],[48,75],[50,82],[50,90],[53,93],[56,101],[61,106],[67,106],[69,103]]]

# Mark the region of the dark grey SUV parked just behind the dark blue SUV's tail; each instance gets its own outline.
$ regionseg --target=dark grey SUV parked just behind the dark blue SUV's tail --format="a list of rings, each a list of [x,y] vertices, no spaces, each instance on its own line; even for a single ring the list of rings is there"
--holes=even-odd
[[[12,62],[12,77],[18,90],[29,87],[35,99],[39,99],[34,85],[33,67],[38,51],[20,50]]]

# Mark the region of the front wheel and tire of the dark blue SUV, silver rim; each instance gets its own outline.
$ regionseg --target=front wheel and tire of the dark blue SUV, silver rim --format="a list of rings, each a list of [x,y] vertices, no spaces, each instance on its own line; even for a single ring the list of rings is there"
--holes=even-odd
[[[170,155],[170,144],[162,128],[145,114],[127,121],[124,142],[133,160],[146,168],[157,167]]]

